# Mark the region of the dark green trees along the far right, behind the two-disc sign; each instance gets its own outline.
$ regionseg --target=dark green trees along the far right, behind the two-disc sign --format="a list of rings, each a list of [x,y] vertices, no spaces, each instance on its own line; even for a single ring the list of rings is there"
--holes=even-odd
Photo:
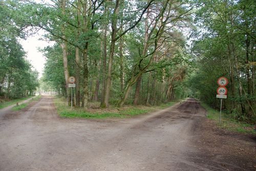
[[[188,85],[194,95],[214,108],[217,80],[229,80],[225,109],[236,115],[237,120],[249,121],[255,117],[255,81],[253,44],[255,41],[255,3],[252,1],[197,1],[201,6],[196,12],[198,31],[194,32],[192,53],[195,71]],[[247,63],[247,64],[246,64]]]

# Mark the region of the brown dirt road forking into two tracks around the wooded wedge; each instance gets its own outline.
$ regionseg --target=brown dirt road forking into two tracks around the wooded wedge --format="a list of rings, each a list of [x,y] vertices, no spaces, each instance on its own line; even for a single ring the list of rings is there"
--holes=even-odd
[[[188,99],[133,118],[64,119],[44,96],[0,114],[0,170],[246,170],[202,156],[194,140],[204,113]]]

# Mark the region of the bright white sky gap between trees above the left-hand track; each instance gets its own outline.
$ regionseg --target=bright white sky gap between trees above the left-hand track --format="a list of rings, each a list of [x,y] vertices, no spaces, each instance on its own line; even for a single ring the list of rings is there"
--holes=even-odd
[[[42,76],[46,59],[43,53],[39,52],[38,48],[44,48],[48,45],[53,45],[54,42],[48,42],[45,40],[39,40],[45,32],[39,30],[38,34],[28,37],[26,40],[20,39],[24,51],[27,52],[27,59],[32,64],[33,68],[39,72],[39,78]]]

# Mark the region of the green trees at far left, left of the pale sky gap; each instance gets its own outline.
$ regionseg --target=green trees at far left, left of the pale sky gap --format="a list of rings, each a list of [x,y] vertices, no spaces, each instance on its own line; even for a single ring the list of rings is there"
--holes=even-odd
[[[13,20],[9,1],[0,5],[0,93],[8,98],[19,98],[34,94],[38,87],[38,72],[32,70],[25,59],[26,53],[17,41],[20,28]]]

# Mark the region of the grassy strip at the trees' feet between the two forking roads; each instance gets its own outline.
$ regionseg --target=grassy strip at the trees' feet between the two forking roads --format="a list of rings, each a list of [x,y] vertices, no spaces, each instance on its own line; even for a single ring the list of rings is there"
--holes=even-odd
[[[142,113],[147,113],[154,111],[156,109],[162,109],[169,106],[174,105],[176,102],[170,102],[163,104],[161,106],[124,106],[121,108],[117,107],[110,107],[107,109],[101,109],[95,106],[95,104],[91,104],[87,111],[83,110],[82,108],[73,108],[71,110],[70,106],[66,105],[66,99],[62,97],[55,97],[54,98],[54,105],[57,109],[57,112],[60,117],[82,117],[82,118],[126,118],[131,117],[133,115],[138,115]]]

